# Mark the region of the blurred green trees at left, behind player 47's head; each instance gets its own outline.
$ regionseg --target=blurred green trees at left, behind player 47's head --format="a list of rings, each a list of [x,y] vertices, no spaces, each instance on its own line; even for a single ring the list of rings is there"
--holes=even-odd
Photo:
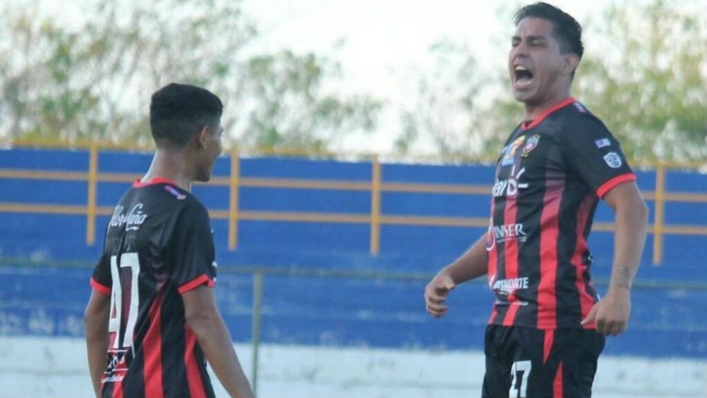
[[[248,55],[257,30],[240,1],[100,0],[78,27],[32,6],[0,11],[5,140],[149,143],[149,95],[171,81],[223,98],[232,144],[326,147],[370,131],[380,108],[370,97],[324,92],[337,76],[329,59]]]

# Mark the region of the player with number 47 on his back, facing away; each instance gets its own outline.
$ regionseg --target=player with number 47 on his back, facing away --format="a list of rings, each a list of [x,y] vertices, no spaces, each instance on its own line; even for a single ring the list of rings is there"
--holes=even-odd
[[[157,150],[105,232],[86,308],[96,397],[214,398],[206,360],[231,397],[253,397],[216,308],[211,222],[189,193],[221,153],[216,95],[170,84],[152,96]],[[106,356],[107,349],[107,356]]]

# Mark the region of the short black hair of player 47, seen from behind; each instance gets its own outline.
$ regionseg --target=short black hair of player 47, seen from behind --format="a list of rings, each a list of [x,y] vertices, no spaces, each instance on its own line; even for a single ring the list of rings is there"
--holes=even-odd
[[[194,85],[170,83],[150,101],[150,129],[155,143],[184,146],[205,126],[215,129],[223,102],[213,92]]]

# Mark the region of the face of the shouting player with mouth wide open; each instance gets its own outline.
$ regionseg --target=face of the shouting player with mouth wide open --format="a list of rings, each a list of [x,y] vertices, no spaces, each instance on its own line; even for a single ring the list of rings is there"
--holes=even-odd
[[[568,91],[570,79],[563,73],[566,56],[552,28],[549,20],[527,17],[511,38],[508,72],[513,96],[526,105],[541,105]]]

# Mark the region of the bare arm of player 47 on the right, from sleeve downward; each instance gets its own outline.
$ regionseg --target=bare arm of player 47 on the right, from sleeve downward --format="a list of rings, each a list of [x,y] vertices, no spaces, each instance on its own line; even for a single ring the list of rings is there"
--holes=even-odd
[[[238,362],[233,343],[216,307],[214,289],[201,286],[182,294],[187,324],[197,337],[206,360],[233,398],[253,398],[250,383]]]

